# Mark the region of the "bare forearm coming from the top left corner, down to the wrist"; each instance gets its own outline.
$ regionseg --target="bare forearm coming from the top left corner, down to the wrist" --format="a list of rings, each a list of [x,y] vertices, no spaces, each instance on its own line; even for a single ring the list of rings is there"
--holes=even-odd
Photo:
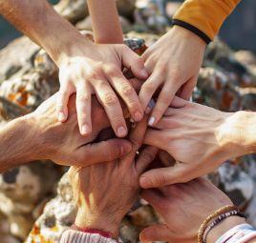
[[[71,51],[73,44],[85,42],[79,31],[46,0],[0,0],[0,14],[45,49],[55,63],[62,53]]]

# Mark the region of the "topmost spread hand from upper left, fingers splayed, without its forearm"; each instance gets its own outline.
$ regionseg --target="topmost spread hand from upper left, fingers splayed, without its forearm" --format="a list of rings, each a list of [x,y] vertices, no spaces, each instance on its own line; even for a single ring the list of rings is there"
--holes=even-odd
[[[124,137],[127,134],[127,127],[117,94],[126,104],[134,121],[139,122],[143,112],[136,91],[124,77],[121,69],[131,69],[136,77],[145,79],[147,72],[142,59],[124,44],[75,45],[71,53],[64,54],[64,57],[57,61],[60,80],[60,95],[57,100],[59,121],[66,121],[69,97],[76,92],[79,130],[82,135],[90,134],[91,96],[96,93],[114,132],[118,137]]]

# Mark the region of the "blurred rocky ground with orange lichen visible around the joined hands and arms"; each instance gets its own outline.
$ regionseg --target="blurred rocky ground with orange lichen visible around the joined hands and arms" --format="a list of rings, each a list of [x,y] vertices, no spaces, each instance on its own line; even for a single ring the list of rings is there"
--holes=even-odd
[[[143,51],[169,29],[180,3],[165,2],[117,0],[120,22],[129,39],[126,43],[133,50]],[[55,10],[79,30],[91,30],[85,0],[61,0]],[[57,90],[57,68],[27,37],[12,41],[0,51],[0,126],[33,111]],[[256,56],[249,51],[232,51],[217,39],[205,52],[193,98],[222,111],[256,111]],[[254,226],[255,162],[256,155],[227,161],[209,175],[248,214]],[[66,171],[51,161],[35,161],[0,174],[1,243],[58,242],[76,212]],[[139,201],[123,219],[120,241],[138,242],[139,231],[159,220],[146,202]]]

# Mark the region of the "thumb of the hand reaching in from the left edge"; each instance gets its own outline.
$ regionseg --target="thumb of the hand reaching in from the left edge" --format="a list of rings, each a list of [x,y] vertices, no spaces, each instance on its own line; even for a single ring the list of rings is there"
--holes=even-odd
[[[79,158],[88,166],[96,163],[108,162],[124,156],[132,150],[132,144],[125,139],[110,139],[98,143],[88,144],[80,148]],[[79,160],[80,161],[80,160]]]

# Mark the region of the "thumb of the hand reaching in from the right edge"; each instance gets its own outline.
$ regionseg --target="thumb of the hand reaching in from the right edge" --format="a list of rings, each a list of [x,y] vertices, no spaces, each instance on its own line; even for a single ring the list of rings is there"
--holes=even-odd
[[[141,174],[139,185],[143,189],[159,188],[176,183],[184,183],[191,179],[192,172],[189,167],[183,163],[176,164],[173,167],[153,169]]]

